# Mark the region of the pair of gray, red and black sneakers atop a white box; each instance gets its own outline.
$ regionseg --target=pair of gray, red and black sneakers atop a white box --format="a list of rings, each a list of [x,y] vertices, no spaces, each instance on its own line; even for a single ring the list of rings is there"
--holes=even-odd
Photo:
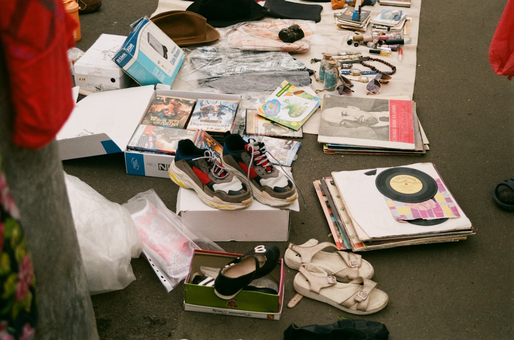
[[[193,189],[205,204],[221,209],[243,209],[259,202],[283,207],[298,197],[295,185],[269,162],[263,143],[227,133],[219,159],[209,149],[197,148],[190,139],[178,142],[170,178]]]

